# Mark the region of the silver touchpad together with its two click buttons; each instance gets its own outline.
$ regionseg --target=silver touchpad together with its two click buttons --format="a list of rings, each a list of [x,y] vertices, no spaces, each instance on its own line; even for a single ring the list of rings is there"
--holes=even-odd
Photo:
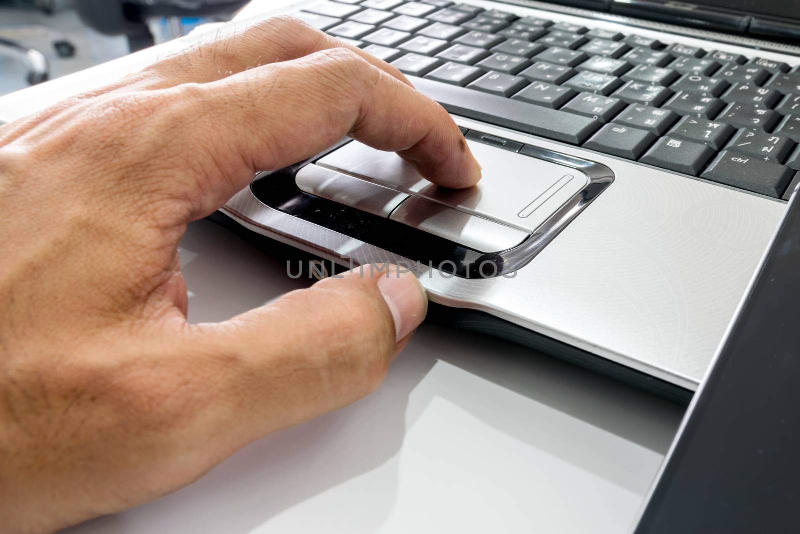
[[[554,235],[549,225],[568,222],[577,213],[568,204],[586,198],[591,180],[584,169],[593,163],[553,152],[547,157],[540,148],[474,131],[466,143],[483,167],[481,181],[467,189],[436,186],[394,152],[356,141],[306,165],[295,180],[312,195],[481,252]]]

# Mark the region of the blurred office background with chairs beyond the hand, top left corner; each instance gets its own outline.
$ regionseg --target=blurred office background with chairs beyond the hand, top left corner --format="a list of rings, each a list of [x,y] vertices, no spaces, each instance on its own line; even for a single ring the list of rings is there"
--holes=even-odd
[[[0,95],[224,22],[247,0],[0,0]]]

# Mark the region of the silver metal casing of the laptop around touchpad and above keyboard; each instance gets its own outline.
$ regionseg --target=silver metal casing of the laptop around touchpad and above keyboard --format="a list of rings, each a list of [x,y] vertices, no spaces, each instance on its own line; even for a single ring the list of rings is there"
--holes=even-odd
[[[552,10],[486,0],[470,3],[627,33],[633,21],[534,2],[514,4]],[[800,62],[797,55],[786,54],[800,53],[793,46],[658,23],[637,26],[634,33],[662,42],[713,46],[791,66]],[[786,204],[454,118],[466,128],[603,163],[614,171],[615,181],[514,279],[459,279],[422,266],[419,275],[430,298],[486,311],[660,379],[696,388]],[[326,259],[403,260],[266,207],[249,189],[234,196],[223,211],[251,230]]]

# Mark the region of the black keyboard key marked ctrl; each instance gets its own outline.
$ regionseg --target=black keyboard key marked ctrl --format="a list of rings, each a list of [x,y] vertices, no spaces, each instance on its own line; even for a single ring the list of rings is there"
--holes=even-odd
[[[777,163],[763,161],[733,151],[722,151],[709,165],[702,178],[746,191],[780,199],[789,186],[794,171]]]

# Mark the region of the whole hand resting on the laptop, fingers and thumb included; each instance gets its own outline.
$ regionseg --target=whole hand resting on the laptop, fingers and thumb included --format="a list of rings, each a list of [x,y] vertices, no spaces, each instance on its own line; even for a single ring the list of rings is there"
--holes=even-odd
[[[378,386],[425,315],[410,275],[326,279],[223,323],[186,323],[186,224],[254,171],[343,135],[442,186],[480,178],[441,106],[292,18],[0,126],[3,532],[153,500]]]

